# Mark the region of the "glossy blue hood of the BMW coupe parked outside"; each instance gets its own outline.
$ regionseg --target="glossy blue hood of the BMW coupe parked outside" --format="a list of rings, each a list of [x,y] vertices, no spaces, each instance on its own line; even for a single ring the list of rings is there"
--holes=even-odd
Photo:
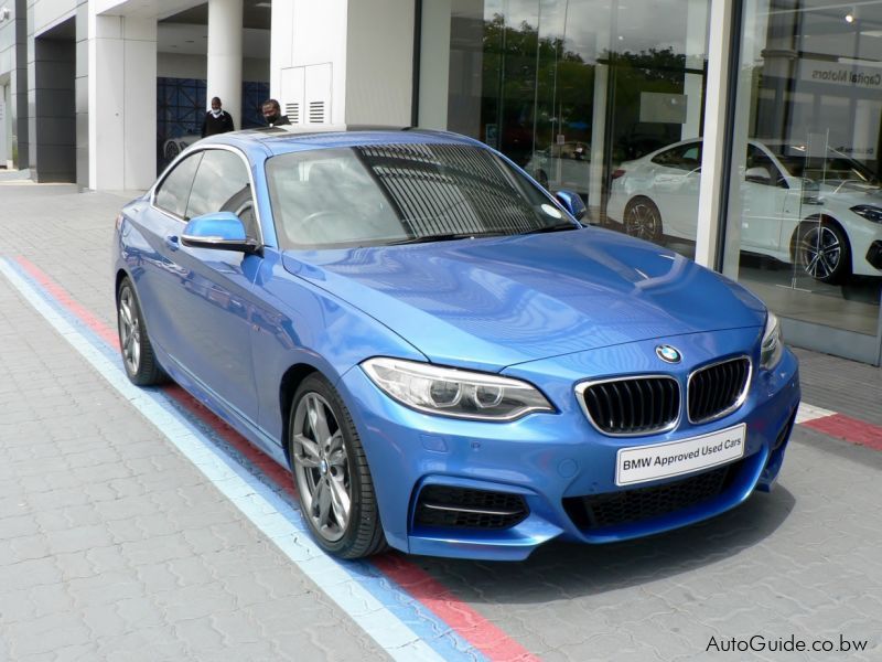
[[[598,228],[290,250],[283,264],[430,361],[480,370],[762,325],[765,316],[759,299],[736,284],[676,253]]]

